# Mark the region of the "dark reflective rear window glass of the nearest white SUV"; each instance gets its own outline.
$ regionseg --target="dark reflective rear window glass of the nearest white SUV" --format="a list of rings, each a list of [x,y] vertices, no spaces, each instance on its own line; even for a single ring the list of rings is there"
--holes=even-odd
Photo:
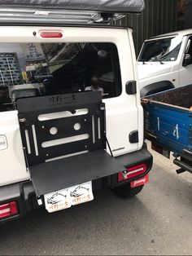
[[[100,90],[121,94],[116,45],[104,42],[1,43],[0,111],[21,97]]]

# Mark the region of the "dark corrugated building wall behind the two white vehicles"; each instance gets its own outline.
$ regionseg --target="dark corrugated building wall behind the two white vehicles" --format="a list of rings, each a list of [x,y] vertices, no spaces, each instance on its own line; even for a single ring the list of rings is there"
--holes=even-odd
[[[185,6],[184,0],[145,0],[145,3],[146,8],[141,15],[129,14],[116,22],[133,27],[136,55],[145,39],[184,29],[183,19],[178,18],[179,8],[183,7],[183,4]]]

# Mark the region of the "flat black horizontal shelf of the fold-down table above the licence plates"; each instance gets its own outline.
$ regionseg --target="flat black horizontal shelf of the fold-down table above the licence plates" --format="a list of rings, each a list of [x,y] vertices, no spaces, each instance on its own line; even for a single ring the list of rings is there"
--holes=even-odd
[[[103,149],[31,166],[37,196],[126,170]]]

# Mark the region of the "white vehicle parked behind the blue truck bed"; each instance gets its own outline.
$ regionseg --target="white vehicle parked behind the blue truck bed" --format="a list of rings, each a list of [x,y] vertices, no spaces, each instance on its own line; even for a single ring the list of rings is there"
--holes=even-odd
[[[141,96],[192,84],[192,29],[146,40],[137,70]]]

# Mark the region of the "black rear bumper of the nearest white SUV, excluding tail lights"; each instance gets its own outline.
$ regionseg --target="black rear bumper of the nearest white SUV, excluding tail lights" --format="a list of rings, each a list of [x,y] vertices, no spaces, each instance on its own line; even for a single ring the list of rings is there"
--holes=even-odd
[[[140,179],[144,177],[150,170],[152,166],[152,156],[151,153],[147,151],[146,144],[143,148],[137,152],[132,152],[124,156],[116,157],[121,164],[125,167],[136,166],[140,163],[146,163],[147,169],[146,172],[142,175],[138,175],[133,179],[124,181],[123,183],[117,182],[117,174],[112,174],[103,179],[96,179],[93,181],[93,190],[101,188],[115,188],[124,183],[129,183],[133,180]],[[43,201],[43,196],[41,196]],[[18,214],[14,216],[0,219],[0,223],[5,223],[15,218],[20,218],[29,211],[35,210],[41,206],[37,203],[37,196],[31,181],[15,183],[0,188],[0,205],[6,204],[10,201],[16,201],[18,206]]]

